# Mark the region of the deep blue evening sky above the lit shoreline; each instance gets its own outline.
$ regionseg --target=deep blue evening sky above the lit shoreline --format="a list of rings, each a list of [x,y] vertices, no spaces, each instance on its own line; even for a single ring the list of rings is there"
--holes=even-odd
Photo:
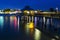
[[[20,8],[29,5],[33,9],[48,10],[50,7],[60,9],[60,0],[0,0],[0,9]]]

